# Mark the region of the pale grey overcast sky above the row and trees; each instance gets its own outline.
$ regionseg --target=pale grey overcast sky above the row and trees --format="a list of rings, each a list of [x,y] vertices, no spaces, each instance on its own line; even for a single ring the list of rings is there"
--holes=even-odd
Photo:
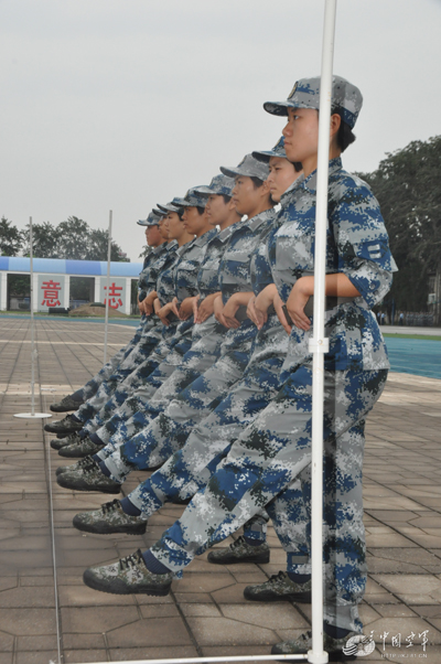
[[[324,0],[0,0],[0,215],[69,216],[132,261],[157,203],[268,150],[262,109],[320,75]],[[345,152],[370,172],[441,133],[441,0],[340,0],[334,73],[364,96]]]

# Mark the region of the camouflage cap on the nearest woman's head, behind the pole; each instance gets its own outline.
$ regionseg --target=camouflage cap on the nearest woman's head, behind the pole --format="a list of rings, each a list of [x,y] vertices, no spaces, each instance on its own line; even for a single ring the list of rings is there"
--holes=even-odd
[[[362,93],[355,85],[342,78],[332,78],[332,110],[341,111],[342,119],[354,128],[363,106]],[[320,76],[314,78],[300,78],[288,95],[287,101],[266,101],[266,111],[276,116],[288,115],[288,108],[315,108],[320,107]]]

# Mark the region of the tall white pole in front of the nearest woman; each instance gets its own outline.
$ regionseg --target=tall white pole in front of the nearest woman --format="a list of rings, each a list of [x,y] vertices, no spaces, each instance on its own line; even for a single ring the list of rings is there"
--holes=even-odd
[[[332,69],[334,60],[336,0],[325,0],[322,73],[320,82],[319,157],[315,212],[314,323],[310,340],[312,365],[312,495],[311,495],[311,571],[312,571],[312,650],[308,661],[327,662],[323,651],[323,398],[324,303],[326,274],[327,182],[330,162],[330,118]]]

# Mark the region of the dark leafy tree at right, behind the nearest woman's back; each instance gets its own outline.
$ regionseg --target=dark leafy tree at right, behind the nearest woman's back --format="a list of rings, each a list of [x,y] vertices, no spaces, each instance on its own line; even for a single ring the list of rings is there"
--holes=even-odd
[[[441,136],[412,141],[361,178],[379,201],[399,268],[389,302],[396,310],[424,310],[429,274],[441,279]]]

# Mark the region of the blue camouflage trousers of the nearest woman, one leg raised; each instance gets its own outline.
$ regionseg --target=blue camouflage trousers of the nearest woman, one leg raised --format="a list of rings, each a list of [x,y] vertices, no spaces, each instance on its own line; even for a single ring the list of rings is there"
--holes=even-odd
[[[325,620],[361,631],[366,583],[362,467],[364,420],[387,370],[324,372]],[[152,547],[175,572],[228,537],[281,494],[311,462],[312,362],[291,373],[276,399],[232,446],[204,491]],[[310,507],[310,484],[302,486]]]

